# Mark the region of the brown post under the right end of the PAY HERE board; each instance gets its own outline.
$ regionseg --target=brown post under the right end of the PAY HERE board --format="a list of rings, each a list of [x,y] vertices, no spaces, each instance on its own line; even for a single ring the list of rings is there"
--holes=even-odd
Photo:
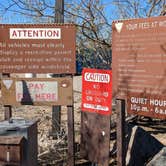
[[[74,166],[74,107],[67,106],[68,117],[68,165]]]

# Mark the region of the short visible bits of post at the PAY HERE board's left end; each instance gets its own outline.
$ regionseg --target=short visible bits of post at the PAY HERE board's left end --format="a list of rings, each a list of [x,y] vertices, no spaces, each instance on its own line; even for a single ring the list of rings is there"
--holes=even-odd
[[[2,77],[3,78],[9,78],[10,74],[9,73],[3,73]],[[11,105],[4,105],[4,108],[5,108],[4,119],[9,120],[12,117],[12,106]]]

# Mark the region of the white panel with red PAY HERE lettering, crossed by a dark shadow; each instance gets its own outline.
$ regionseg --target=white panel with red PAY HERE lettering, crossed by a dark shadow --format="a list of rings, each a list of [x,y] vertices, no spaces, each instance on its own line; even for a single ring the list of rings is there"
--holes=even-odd
[[[17,81],[17,102],[56,102],[58,83],[48,81]]]

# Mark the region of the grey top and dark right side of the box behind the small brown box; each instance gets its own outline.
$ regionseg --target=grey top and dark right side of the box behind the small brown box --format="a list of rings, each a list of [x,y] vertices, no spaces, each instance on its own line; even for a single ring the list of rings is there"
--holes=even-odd
[[[24,137],[23,158],[20,166],[37,166],[37,122],[23,119],[11,119],[0,122],[0,137],[8,136],[11,140],[15,137]],[[16,140],[15,140],[16,141]],[[0,141],[2,142],[2,141]],[[18,143],[18,140],[16,141]],[[17,148],[18,149],[18,148]]]

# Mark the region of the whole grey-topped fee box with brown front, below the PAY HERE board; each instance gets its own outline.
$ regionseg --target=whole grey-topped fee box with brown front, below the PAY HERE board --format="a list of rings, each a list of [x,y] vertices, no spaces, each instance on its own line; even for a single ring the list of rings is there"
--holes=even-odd
[[[37,166],[37,149],[36,121],[13,119],[0,122],[0,160],[9,160],[12,165]]]

